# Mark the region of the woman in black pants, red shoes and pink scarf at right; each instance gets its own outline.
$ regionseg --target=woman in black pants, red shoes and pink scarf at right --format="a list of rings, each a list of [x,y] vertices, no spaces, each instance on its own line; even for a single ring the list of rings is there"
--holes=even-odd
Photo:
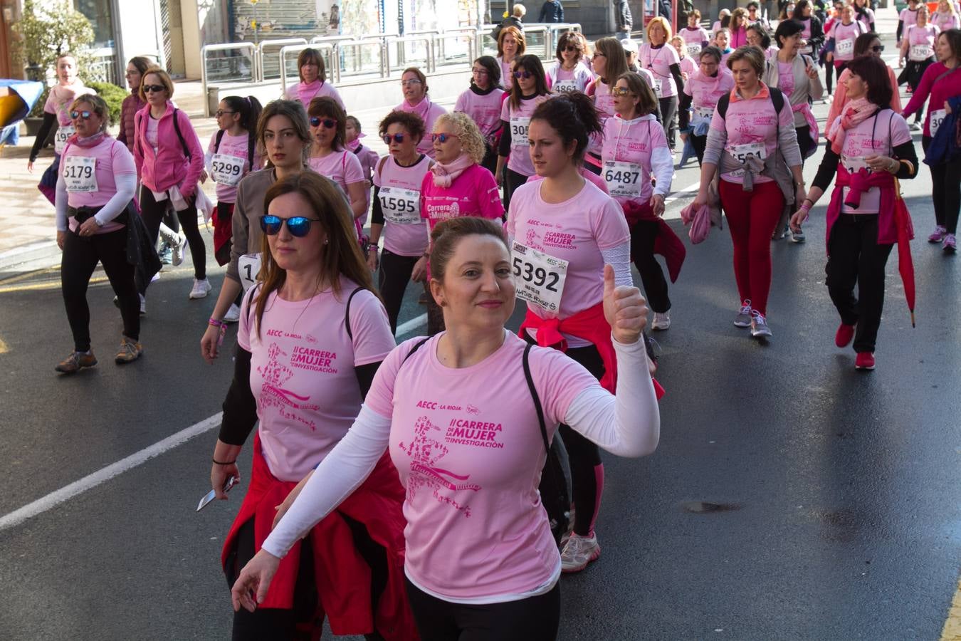
[[[918,155],[904,118],[891,102],[887,65],[873,56],[848,64],[850,102],[827,127],[825,159],[794,216],[800,226],[837,176],[827,206],[827,291],[841,316],[838,347],[854,341],[857,369],[875,368],[875,340],[884,305],[884,266],[898,241],[895,178],[918,175]],[[853,179],[858,177],[857,184]],[[854,285],[857,284],[857,297]]]

